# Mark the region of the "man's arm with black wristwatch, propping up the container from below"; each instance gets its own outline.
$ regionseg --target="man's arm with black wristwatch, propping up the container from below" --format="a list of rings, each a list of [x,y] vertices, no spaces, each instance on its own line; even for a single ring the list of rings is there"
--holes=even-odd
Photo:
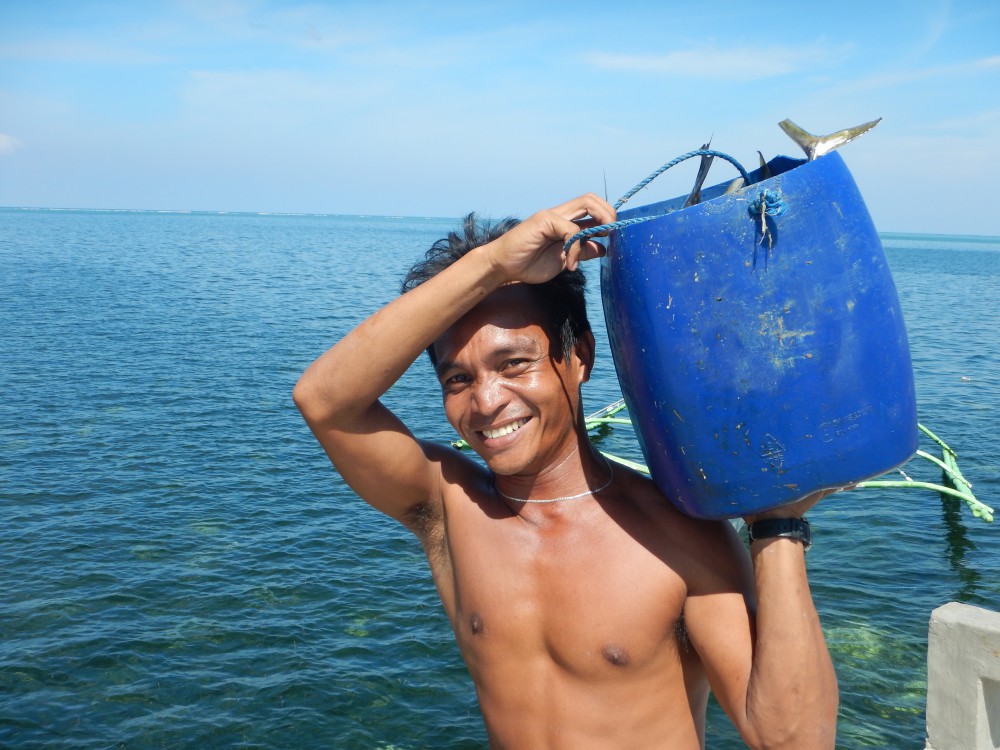
[[[823,494],[747,523],[801,517]],[[719,577],[685,605],[712,690],[748,747],[833,750],[837,676],[809,590],[805,546],[785,537],[754,541],[751,573],[730,536],[731,547],[714,562]],[[727,577],[743,578],[742,595],[722,583]]]

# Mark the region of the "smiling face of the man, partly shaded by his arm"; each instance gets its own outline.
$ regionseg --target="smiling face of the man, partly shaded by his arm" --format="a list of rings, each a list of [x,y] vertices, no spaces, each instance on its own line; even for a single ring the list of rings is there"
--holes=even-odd
[[[576,444],[593,348],[588,336],[563,358],[543,321],[527,286],[513,284],[434,342],[448,421],[496,474],[538,473]]]

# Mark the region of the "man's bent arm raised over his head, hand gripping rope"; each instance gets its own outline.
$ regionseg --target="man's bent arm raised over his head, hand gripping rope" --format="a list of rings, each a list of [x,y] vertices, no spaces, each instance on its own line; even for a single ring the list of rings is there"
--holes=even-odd
[[[593,217],[585,220],[585,217]],[[471,250],[444,271],[377,311],[317,359],[293,398],[345,481],[394,518],[440,495],[432,447],[418,441],[379,398],[451,325],[500,286],[541,283],[600,246],[563,243],[581,226],[613,221],[595,195],[540,211],[499,239]]]

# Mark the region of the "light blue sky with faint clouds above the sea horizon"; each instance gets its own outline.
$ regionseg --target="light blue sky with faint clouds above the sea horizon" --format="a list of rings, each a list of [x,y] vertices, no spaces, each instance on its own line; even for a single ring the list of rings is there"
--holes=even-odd
[[[0,206],[524,217],[877,117],[880,231],[1000,235],[996,0],[0,0]]]

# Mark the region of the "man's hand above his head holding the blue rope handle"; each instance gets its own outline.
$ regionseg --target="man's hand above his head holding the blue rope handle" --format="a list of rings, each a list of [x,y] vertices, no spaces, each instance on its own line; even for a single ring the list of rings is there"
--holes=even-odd
[[[615,209],[607,201],[588,193],[539,211],[484,249],[503,283],[541,284],[564,269],[576,270],[581,261],[603,255],[603,246],[592,240],[575,242],[568,252],[563,245],[581,229],[610,224],[615,218]]]

